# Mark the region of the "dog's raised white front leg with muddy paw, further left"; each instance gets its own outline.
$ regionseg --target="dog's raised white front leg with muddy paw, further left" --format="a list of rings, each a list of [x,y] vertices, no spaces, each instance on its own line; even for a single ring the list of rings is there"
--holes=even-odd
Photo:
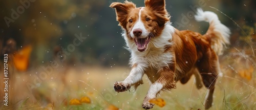
[[[141,82],[144,74],[143,66],[140,64],[133,64],[132,70],[129,76],[124,81],[119,81],[114,84],[116,92],[124,92],[130,90],[131,85]]]

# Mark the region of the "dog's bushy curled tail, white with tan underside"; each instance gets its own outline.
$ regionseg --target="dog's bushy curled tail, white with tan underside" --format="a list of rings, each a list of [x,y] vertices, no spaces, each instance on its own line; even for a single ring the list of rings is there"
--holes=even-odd
[[[223,49],[229,45],[230,30],[219,20],[218,16],[214,12],[203,11],[201,8],[197,9],[197,15],[195,15],[197,21],[208,22],[209,29],[204,36],[210,37],[211,48],[221,55]]]

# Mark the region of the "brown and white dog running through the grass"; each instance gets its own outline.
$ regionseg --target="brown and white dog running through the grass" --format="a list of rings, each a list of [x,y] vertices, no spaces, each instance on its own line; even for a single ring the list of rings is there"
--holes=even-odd
[[[212,95],[217,76],[220,74],[218,55],[229,44],[229,29],[221,24],[218,16],[198,9],[195,18],[209,22],[206,34],[175,29],[165,9],[164,0],[145,0],[145,7],[137,8],[132,2],[112,3],[127,50],[131,52],[132,70],[124,81],[116,82],[116,92],[135,89],[147,75],[152,82],[142,107],[153,108],[149,100],[156,98],[161,90],[176,88],[176,82],[186,83],[196,76],[197,87],[201,82],[208,89],[205,108],[212,105]]]

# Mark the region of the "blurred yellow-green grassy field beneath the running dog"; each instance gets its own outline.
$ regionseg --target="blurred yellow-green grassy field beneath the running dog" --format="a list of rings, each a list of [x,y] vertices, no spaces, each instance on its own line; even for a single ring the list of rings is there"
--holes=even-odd
[[[225,67],[222,66],[223,76],[217,79],[214,104],[210,109],[255,108],[255,75],[247,80]],[[40,68],[45,70],[39,71]],[[150,85],[145,76],[144,84],[136,91],[116,93],[113,89],[114,82],[122,81],[129,72],[127,67],[85,65],[56,69],[45,65],[28,72],[13,69],[9,74],[12,76],[8,106],[1,101],[0,109],[143,109],[141,103]],[[166,105],[155,105],[153,109],[204,109],[207,89],[197,90],[194,80],[193,76],[184,85],[178,82],[177,89],[161,92],[157,98],[162,98]],[[2,92],[1,97],[3,95]],[[71,104],[72,100],[82,97],[88,97],[90,102]]]

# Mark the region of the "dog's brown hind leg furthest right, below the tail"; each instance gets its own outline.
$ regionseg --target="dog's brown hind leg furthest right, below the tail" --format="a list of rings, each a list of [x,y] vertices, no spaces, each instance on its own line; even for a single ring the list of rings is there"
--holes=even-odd
[[[220,72],[218,56],[214,51],[209,50],[202,59],[198,60],[197,67],[203,83],[208,89],[208,95],[205,97],[205,109],[208,109],[212,105],[215,83]]]

